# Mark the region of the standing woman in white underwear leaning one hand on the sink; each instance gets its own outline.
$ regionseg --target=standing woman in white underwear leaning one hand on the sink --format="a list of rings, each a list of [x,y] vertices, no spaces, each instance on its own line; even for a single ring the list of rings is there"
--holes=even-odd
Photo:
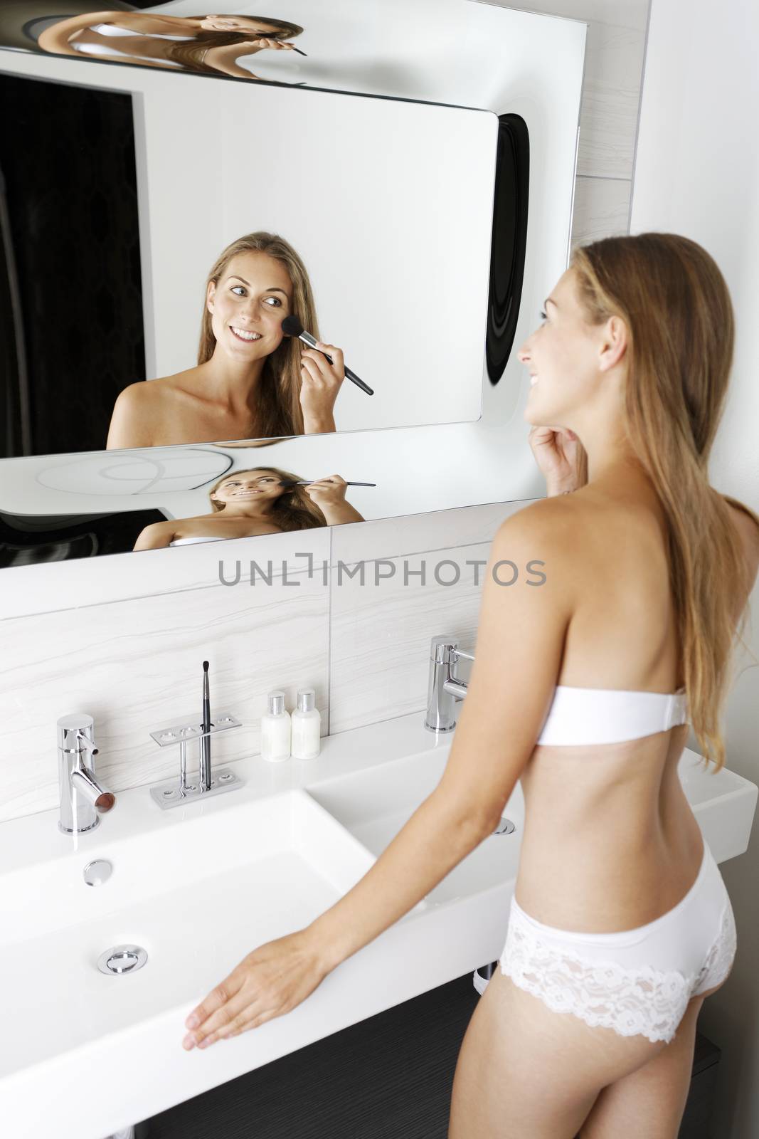
[[[727,665],[759,568],[759,517],[707,470],[732,306],[699,245],[644,233],[576,251],[542,317],[519,358],[550,497],[493,541],[444,776],[353,890],[196,1007],[183,1044],[292,1009],[493,833],[520,780],[506,941],[464,1035],[449,1139],[675,1139],[696,1017],[735,951],[677,776],[685,696],[706,760],[724,763]],[[574,484],[559,428],[587,461]],[[498,588],[501,559],[534,558],[539,589]]]

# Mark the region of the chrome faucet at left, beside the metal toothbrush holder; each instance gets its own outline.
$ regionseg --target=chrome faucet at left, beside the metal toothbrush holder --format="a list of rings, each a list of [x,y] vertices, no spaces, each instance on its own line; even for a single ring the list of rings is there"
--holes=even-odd
[[[65,835],[94,830],[100,814],[116,802],[94,778],[94,721],[85,712],[63,715],[58,721],[58,787],[60,818],[58,829]]]

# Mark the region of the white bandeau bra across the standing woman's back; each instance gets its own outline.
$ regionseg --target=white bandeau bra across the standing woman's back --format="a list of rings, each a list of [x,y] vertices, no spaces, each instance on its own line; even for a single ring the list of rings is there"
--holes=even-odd
[[[538,744],[619,744],[687,723],[687,697],[556,685]]]

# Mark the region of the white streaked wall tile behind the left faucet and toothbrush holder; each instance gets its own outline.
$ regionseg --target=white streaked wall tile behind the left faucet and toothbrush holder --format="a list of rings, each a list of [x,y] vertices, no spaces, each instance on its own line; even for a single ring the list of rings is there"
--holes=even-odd
[[[110,790],[179,771],[179,749],[149,732],[200,714],[204,658],[212,713],[244,724],[214,737],[214,763],[259,752],[273,688],[290,710],[298,685],[314,687],[327,735],[328,647],[329,590],[303,573],[6,621],[0,819],[57,805],[56,721],[69,712],[94,716],[96,772]]]

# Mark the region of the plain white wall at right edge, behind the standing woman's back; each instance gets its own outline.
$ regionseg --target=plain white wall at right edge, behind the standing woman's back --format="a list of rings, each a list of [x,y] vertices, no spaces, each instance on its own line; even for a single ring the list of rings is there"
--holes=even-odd
[[[684,233],[725,273],[736,311],[732,386],[710,464],[718,490],[759,510],[759,8],[750,0],[652,0],[633,189],[632,231]],[[759,589],[751,604],[759,608]],[[757,622],[754,620],[754,625]],[[759,629],[746,637],[759,657]],[[759,665],[743,652],[725,716],[727,764],[759,775]],[[715,1139],[759,1134],[759,826],[721,868],[737,957],[699,1029],[723,1050]]]

